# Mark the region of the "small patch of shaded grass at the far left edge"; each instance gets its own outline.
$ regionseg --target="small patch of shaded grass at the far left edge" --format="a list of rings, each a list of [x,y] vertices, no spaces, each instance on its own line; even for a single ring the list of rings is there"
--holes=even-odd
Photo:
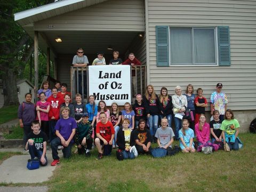
[[[11,121],[18,118],[18,106],[9,106],[0,108],[0,124]]]

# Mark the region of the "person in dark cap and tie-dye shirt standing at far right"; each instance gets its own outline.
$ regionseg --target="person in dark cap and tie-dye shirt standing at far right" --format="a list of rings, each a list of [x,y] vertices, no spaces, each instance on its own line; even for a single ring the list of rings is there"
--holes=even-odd
[[[216,91],[214,91],[211,95],[211,115],[214,110],[218,110],[220,112],[220,120],[224,119],[225,111],[227,110],[228,99],[225,93],[221,92],[222,83],[218,83],[216,85]]]

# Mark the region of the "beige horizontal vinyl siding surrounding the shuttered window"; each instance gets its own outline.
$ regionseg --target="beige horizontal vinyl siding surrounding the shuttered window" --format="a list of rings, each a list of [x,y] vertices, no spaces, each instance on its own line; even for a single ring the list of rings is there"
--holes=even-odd
[[[256,109],[256,1],[146,0],[148,12],[148,83],[159,93],[166,86],[174,94],[180,85],[185,93],[191,83],[210,102],[218,82],[233,110]],[[155,26],[229,26],[231,66],[156,66]],[[196,91],[195,91],[196,92]],[[210,108],[207,108],[209,110]]]

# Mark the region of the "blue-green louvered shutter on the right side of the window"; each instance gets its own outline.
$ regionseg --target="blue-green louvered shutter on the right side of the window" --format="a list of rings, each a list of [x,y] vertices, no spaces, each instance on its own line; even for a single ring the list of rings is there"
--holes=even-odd
[[[219,66],[230,66],[229,27],[218,26]]]

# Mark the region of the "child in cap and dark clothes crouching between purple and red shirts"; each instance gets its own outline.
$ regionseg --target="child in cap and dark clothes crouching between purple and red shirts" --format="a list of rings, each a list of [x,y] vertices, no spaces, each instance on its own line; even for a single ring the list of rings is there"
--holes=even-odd
[[[75,142],[77,145],[78,154],[85,154],[90,157],[92,149],[92,124],[89,122],[89,114],[84,113],[82,121],[77,124]]]

